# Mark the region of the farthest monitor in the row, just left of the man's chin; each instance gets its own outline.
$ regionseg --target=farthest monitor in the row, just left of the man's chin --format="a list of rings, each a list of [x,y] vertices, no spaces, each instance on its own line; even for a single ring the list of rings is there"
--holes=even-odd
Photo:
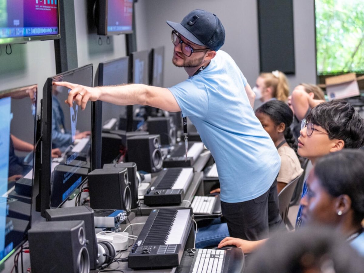
[[[150,59],[150,84],[163,87],[164,47],[157,47],[151,50]]]

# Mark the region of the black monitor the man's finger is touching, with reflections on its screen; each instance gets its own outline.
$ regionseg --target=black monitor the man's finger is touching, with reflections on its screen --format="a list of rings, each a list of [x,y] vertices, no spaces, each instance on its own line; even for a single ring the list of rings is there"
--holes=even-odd
[[[97,145],[95,130],[92,130],[94,103],[88,102],[83,111],[76,103],[69,107],[64,101],[70,89],[53,85],[61,81],[92,86],[92,64],[52,76],[44,85],[40,183],[43,217],[45,209],[62,206],[74,197],[87,177],[89,166],[93,165],[91,155],[95,153],[90,150]],[[60,149],[62,157],[52,158],[52,149]]]

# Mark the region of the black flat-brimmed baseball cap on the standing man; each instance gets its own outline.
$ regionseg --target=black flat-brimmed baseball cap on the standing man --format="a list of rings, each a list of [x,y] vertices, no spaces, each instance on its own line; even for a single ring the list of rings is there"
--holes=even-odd
[[[183,18],[181,24],[167,21],[175,31],[192,43],[217,51],[224,44],[225,29],[218,17],[208,11],[195,9]]]

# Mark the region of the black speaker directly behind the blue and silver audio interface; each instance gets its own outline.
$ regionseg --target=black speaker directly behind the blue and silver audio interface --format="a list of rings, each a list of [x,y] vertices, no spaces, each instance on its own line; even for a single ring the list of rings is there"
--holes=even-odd
[[[96,169],[88,174],[92,209],[130,211],[131,191],[126,168]]]

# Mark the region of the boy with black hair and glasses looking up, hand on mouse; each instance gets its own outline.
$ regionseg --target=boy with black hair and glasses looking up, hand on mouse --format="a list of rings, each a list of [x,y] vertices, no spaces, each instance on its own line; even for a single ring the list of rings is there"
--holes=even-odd
[[[318,125],[320,124],[320,125]],[[329,153],[342,149],[359,149],[364,145],[364,121],[355,108],[344,100],[325,102],[314,107],[307,121],[302,123],[302,130],[298,138],[298,154],[308,158],[315,166],[317,160]],[[302,198],[308,194],[304,183]],[[302,201],[301,201],[302,202]],[[297,214],[296,229],[301,225],[302,203]],[[264,244],[265,240],[246,241],[227,237],[223,239],[219,248],[225,245],[236,245],[244,253],[254,251]]]

